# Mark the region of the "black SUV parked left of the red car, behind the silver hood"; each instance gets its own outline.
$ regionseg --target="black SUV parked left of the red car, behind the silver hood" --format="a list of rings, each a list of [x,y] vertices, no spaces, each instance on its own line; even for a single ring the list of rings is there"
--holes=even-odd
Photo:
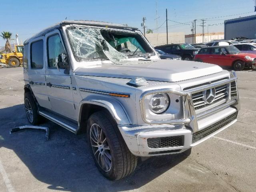
[[[155,49],[164,51],[168,54],[181,56],[182,60],[191,61],[198,53],[199,49],[194,48],[190,44],[168,44],[156,46]]]

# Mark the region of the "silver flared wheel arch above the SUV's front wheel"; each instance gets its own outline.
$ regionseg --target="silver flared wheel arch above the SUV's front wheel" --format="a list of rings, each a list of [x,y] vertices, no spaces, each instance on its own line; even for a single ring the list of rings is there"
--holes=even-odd
[[[128,125],[131,121],[120,102],[103,96],[89,96],[79,104],[78,130],[84,132],[91,114],[106,110],[118,125]]]

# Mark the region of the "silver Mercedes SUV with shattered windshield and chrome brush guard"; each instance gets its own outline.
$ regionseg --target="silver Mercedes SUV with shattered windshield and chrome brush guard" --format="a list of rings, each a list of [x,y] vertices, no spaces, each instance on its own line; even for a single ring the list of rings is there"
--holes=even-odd
[[[96,166],[118,180],[138,156],[190,154],[236,122],[235,72],[160,60],[133,27],[64,21],[24,42],[28,121],[86,132]]]

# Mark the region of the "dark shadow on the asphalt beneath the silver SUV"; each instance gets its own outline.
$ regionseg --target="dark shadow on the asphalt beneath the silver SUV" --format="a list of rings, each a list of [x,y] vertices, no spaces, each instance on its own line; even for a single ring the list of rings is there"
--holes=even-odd
[[[132,175],[110,181],[98,172],[88,151],[85,134],[75,135],[49,121],[43,124],[50,128],[50,139],[47,142],[43,131],[26,130],[9,134],[11,128],[29,124],[22,104],[0,109],[0,122],[0,148],[13,150],[32,175],[53,190],[133,190],[186,159],[182,154],[152,157],[143,162],[139,159]]]

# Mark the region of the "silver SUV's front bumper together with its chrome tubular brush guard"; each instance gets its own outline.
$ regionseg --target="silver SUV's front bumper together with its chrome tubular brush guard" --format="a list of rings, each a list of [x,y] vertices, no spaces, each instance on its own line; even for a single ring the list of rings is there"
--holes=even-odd
[[[230,100],[206,112],[196,114],[190,92],[176,90],[162,90],[183,96],[184,116],[182,119],[150,121],[144,116],[143,98],[141,97],[142,118],[147,126],[130,125],[118,126],[129,150],[136,156],[156,156],[161,154],[181,153],[200,144],[236,122],[240,110],[239,96],[236,86],[237,76],[234,72],[231,78],[218,83],[213,83],[198,90],[207,90],[215,86],[230,83]],[[235,83],[235,84],[234,84]],[[233,90],[233,88],[235,88]],[[234,92],[236,90],[236,92]],[[156,92],[161,92],[157,90]],[[153,91],[154,93],[154,91]]]

